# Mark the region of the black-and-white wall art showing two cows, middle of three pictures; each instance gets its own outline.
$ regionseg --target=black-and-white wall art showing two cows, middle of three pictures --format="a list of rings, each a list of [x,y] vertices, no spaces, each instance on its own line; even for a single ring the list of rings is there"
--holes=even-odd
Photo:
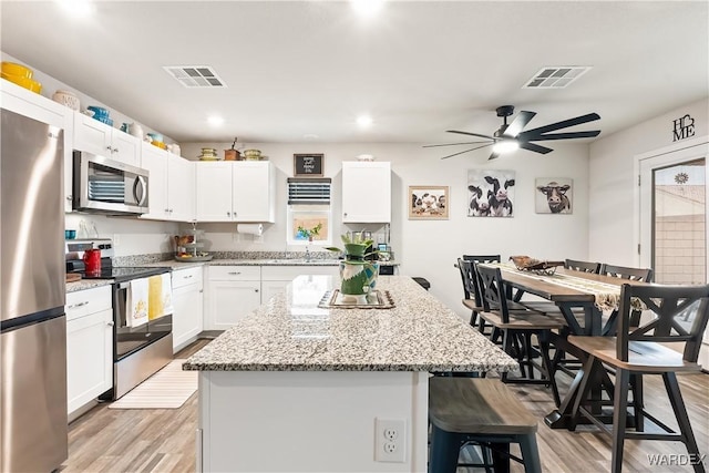
[[[512,217],[514,184],[514,171],[470,169],[467,216]]]

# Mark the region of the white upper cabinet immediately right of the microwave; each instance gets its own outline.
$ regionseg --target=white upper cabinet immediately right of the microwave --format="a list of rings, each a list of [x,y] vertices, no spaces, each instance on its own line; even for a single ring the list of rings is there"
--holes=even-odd
[[[193,222],[195,219],[194,163],[143,143],[140,167],[150,172],[150,213],[141,218]]]

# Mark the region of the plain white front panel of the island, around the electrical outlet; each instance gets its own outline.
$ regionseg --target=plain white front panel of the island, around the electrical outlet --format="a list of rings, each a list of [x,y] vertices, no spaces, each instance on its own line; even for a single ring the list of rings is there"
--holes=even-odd
[[[427,470],[425,372],[203,371],[199,376],[201,419],[208,425],[202,442],[209,448],[198,446],[204,454],[197,471]],[[404,462],[374,461],[377,418],[405,422]],[[274,445],[284,445],[282,454],[274,454]]]

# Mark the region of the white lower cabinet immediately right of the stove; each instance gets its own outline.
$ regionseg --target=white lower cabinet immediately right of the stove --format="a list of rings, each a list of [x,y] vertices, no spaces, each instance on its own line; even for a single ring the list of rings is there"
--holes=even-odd
[[[173,271],[173,353],[202,332],[204,319],[203,267]]]

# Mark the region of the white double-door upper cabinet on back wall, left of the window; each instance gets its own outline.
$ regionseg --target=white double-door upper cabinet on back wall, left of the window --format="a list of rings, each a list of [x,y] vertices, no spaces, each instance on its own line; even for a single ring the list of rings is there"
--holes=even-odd
[[[275,222],[270,162],[195,163],[195,168],[198,222]]]

